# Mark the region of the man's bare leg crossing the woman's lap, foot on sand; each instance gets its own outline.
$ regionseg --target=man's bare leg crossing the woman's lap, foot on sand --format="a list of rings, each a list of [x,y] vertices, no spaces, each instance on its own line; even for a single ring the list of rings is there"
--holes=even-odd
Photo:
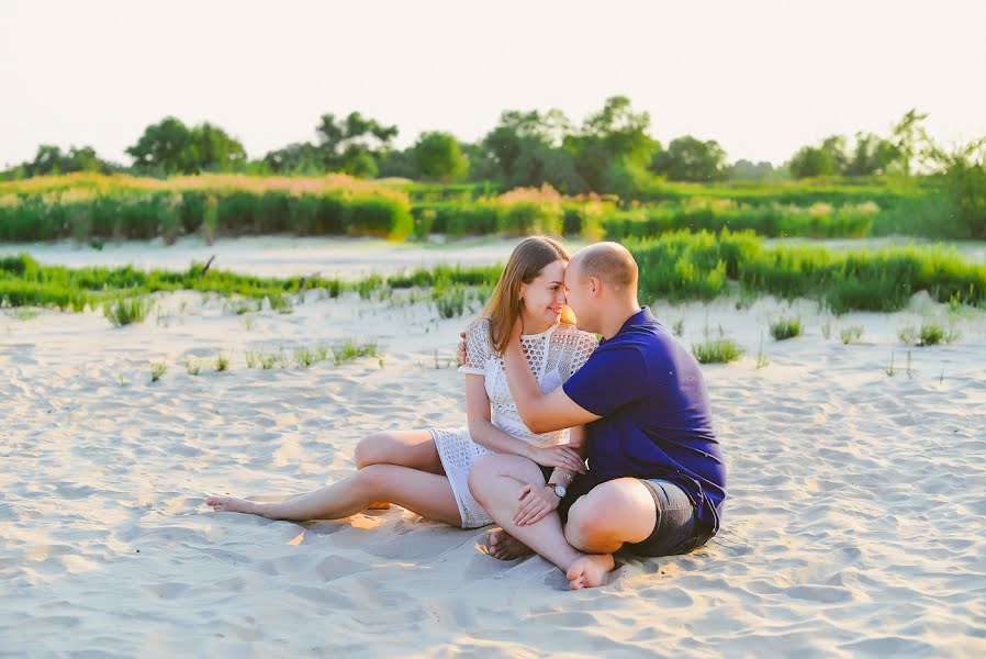
[[[558,566],[573,589],[606,583],[613,570],[613,557],[586,555],[565,540],[558,513],[552,512],[537,524],[517,526],[514,513],[519,505],[518,494],[526,484],[544,485],[545,476],[538,466],[519,456],[492,455],[480,458],[469,473],[469,490],[503,529],[540,556]]]

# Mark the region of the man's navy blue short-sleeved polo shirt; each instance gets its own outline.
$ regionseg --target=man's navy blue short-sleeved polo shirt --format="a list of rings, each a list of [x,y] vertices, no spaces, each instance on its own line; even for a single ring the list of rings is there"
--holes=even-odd
[[[713,532],[726,498],[726,466],[698,362],[645,306],[564,383],[602,416],[586,424],[589,479],[664,479],[680,485]],[[583,488],[580,488],[582,490]]]

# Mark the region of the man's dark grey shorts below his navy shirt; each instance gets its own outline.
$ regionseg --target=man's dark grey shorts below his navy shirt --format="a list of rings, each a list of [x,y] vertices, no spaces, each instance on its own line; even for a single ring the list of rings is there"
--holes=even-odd
[[[551,469],[541,467],[541,471],[545,472],[545,480],[551,476]],[[658,515],[651,534],[639,543],[626,544],[626,549],[639,556],[687,554],[706,544],[715,535],[701,527],[695,504],[680,487],[660,479],[638,480],[653,496]],[[558,505],[562,524],[568,521],[572,504],[580,496],[589,494],[594,487],[589,484],[586,479],[576,478],[572,487],[568,488],[564,499]]]

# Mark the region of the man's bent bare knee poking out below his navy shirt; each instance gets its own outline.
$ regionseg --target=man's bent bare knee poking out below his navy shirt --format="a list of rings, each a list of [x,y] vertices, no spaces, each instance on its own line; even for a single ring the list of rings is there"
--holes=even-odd
[[[569,509],[564,536],[589,554],[613,554],[624,543],[650,536],[658,518],[647,485],[636,478],[618,478],[593,488]]]

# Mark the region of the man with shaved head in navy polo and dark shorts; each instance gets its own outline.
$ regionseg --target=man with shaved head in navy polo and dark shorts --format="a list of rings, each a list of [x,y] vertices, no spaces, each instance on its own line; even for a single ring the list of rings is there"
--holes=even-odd
[[[503,527],[491,554],[537,551],[573,589],[603,585],[613,552],[683,554],[716,534],[726,470],[708,392],[695,358],[637,302],[637,264],[616,243],[576,253],[568,303],[600,347],[562,387],[545,394],[527,367],[519,328],[504,351],[511,393],[535,433],[586,424],[589,471],[552,473],[513,455],[482,458],[470,491]],[[562,478],[560,479],[559,476]],[[564,488],[559,480],[569,480]],[[519,505],[518,505],[519,501]],[[557,509],[557,511],[556,511]]]

